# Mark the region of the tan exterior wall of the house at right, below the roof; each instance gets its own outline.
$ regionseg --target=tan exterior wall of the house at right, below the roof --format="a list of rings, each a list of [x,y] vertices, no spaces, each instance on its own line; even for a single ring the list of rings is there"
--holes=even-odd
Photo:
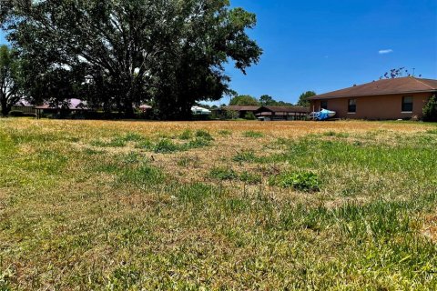
[[[402,112],[402,98],[404,96],[413,97],[412,112]],[[423,106],[426,105],[431,98],[432,93],[415,93],[403,95],[374,95],[360,97],[344,97],[323,99],[328,102],[328,110],[337,112],[337,118],[348,119],[370,119],[370,120],[392,120],[406,119],[417,116],[422,117]],[[348,112],[349,100],[357,100],[356,113]],[[311,100],[310,109],[315,111],[320,110],[321,100]]]

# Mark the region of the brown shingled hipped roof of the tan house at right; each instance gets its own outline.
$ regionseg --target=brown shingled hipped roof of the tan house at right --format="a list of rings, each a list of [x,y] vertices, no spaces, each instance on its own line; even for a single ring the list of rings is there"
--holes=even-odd
[[[330,98],[393,95],[434,91],[437,91],[437,80],[419,79],[412,76],[407,76],[395,79],[383,79],[379,81],[373,81],[371,83],[363,85],[354,85],[349,88],[321,95],[315,95],[308,99],[320,100]]]

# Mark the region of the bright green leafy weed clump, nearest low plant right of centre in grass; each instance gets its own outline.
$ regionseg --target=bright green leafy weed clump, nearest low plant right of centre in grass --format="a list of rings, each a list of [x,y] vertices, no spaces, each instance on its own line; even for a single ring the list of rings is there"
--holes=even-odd
[[[279,176],[270,177],[271,186],[282,188],[293,188],[304,192],[320,191],[320,178],[311,172],[285,173]]]

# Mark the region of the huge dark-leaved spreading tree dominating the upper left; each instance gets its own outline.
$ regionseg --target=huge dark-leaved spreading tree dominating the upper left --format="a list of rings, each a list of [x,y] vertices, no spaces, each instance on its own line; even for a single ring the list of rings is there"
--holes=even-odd
[[[148,103],[163,119],[188,119],[195,103],[229,94],[226,63],[243,74],[258,64],[262,49],[247,35],[256,22],[228,0],[4,5],[12,49],[1,52],[2,111],[17,96],[56,105],[79,98],[106,112],[131,116]]]

